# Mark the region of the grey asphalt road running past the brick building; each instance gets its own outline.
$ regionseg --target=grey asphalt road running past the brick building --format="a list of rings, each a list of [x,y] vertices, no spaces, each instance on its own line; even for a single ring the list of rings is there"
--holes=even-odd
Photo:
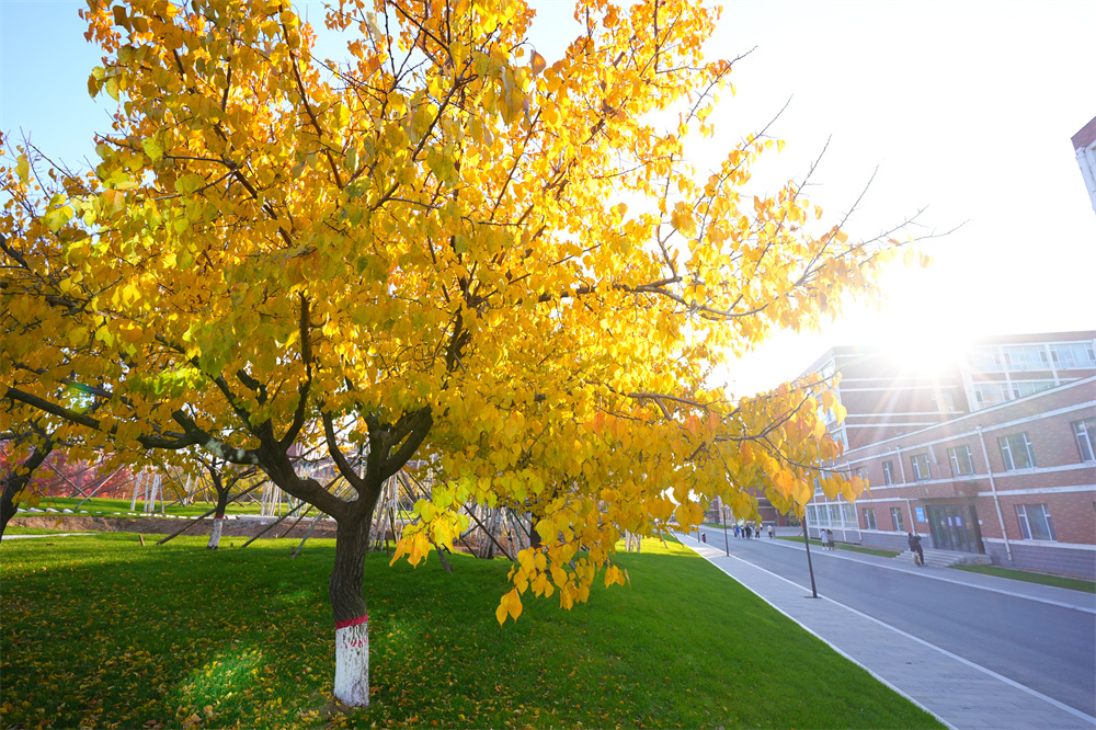
[[[720,531],[708,545],[723,548]],[[731,555],[810,586],[807,556],[777,541],[738,539]],[[1021,596],[843,559],[811,546],[824,595],[1027,687],[1096,716],[1096,616]]]

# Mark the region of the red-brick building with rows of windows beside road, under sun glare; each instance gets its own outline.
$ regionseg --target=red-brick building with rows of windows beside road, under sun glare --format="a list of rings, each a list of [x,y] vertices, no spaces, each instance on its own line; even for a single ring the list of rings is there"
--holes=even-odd
[[[855,506],[808,505],[812,534],[985,554],[994,563],[1096,579],[1096,332],[983,340],[935,373],[836,347],[848,410],[842,464],[868,479]]]

